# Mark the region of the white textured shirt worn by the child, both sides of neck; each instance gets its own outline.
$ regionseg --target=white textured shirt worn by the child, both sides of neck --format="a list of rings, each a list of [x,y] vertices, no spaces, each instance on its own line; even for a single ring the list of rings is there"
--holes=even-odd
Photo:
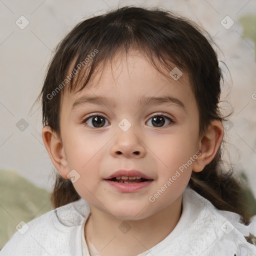
[[[2,248],[0,256],[93,256],[84,237],[89,214],[89,204],[82,198],[51,210],[23,225]],[[256,256],[256,246],[244,237],[256,236],[256,215],[249,225],[240,219],[234,212],[218,210],[187,186],[174,229],[137,256]],[[91,244],[90,248],[94,249],[92,253],[96,251]],[[96,253],[100,256],[100,251]]]

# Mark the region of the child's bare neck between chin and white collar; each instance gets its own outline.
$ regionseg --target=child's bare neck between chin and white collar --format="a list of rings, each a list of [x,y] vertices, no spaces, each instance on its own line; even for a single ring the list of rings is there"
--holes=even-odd
[[[137,255],[163,240],[176,226],[182,195],[166,208],[139,220],[123,220],[90,205],[91,214],[84,227],[85,239],[100,256]],[[129,230],[128,230],[129,229]]]

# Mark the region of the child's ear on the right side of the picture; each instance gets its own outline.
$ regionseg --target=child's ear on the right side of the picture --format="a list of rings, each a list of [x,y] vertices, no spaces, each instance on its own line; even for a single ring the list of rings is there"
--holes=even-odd
[[[205,165],[211,162],[223,139],[223,135],[224,129],[221,121],[213,120],[199,140],[199,151],[201,154],[194,162],[193,171],[202,171]]]

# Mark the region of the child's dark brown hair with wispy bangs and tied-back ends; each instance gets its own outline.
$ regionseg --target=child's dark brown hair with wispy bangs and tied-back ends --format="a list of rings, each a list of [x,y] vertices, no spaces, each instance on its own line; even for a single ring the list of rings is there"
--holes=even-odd
[[[63,90],[80,91],[100,64],[104,66],[117,52],[127,54],[129,49],[137,49],[164,75],[164,69],[169,72],[174,66],[188,73],[199,109],[199,131],[203,133],[212,120],[226,120],[218,106],[222,75],[211,44],[210,36],[195,23],[160,8],[126,6],[83,20],[57,45],[48,66],[37,98],[42,96],[42,123],[61,138]],[[79,63],[83,68],[77,68]],[[75,82],[68,70],[78,72]],[[83,81],[80,88],[76,88],[81,84],[78,80]],[[232,167],[220,167],[221,150],[222,143],[201,172],[192,172],[189,186],[218,209],[237,212],[245,221],[249,216],[242,204],[242,186],[232,176]],[[54,207],[79,198],[71,181],[58,175],[51,197]]]

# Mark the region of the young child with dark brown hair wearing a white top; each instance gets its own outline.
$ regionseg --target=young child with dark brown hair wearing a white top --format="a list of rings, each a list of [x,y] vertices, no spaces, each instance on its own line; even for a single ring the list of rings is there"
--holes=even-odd
[[[76,25],[41,94],[54,210],[0,255],[256,255],[221,163],[216,53],[194,23],[123,7]]]

